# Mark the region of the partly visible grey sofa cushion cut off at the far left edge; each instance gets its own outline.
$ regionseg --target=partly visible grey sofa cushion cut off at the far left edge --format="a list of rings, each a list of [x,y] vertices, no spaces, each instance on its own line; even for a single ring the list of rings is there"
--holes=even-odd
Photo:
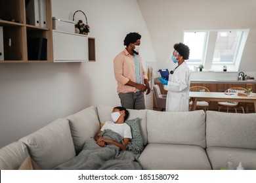
[[[28,156],[28,148],[23,142],[12,142],[0,149],[0,169],[17,170]]]

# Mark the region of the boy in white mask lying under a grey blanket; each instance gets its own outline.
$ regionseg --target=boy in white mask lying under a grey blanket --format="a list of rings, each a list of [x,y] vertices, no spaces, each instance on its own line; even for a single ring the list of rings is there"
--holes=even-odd
[[[137,146],[129,142],[128,110],[114,107],[111,116],[113,122],[106,122],[95,138],[85,141],[77,156],[55,169],[142,169]]]

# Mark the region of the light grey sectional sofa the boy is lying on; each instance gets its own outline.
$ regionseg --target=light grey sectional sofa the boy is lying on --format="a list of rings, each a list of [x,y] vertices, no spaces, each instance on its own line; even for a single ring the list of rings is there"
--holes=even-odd
[[[60,118],[0,149],[0,169],[53,169],[74,158],[100,123],[111,120],[112,108],[98,105]],[[256,169],[256,114],[196,110],[160,112],[130,110],[140,118],[144,150],[142,169],[219,170],[231,154],[234,167]]]

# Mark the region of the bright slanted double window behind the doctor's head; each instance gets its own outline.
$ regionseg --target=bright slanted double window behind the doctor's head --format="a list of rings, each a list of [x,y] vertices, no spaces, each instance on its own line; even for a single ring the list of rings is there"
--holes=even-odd
[[[249,29],[184,31],[184,44],[190,48],[186,61],[190,69],[200,64],[204,71],[238,71]]]

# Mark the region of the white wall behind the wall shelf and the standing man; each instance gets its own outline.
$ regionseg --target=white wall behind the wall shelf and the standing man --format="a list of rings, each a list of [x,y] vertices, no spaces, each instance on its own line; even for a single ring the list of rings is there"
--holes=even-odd
[[[141,55],[156,61],[152,42],[135,0],[52,0],[53,16],[69,19],[83,10],[96,38],[96,62],[0,65],[0,148],[56,118],[91,105],[119,105],[113,59],[131,31],[142,35]],[[75,20],[85,22],[82,13]],[[72,50],[71,50],[72,51]]]

